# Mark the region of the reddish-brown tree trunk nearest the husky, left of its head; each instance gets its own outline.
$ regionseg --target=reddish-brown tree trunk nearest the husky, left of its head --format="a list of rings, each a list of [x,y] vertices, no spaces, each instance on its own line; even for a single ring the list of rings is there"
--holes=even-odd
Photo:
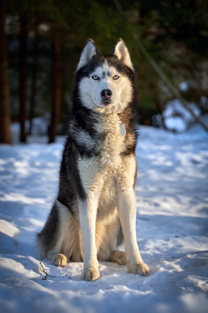
[[[49,143],[55,141],[61,108],[61,42],[60,32],[57,28],[53,29],[52,37],[52,77],[51,123],[48,127]]]

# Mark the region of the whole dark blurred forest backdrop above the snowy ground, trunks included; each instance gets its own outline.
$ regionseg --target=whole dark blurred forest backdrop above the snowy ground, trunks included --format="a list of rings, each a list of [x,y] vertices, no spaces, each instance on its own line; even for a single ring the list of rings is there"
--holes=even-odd
[[[140,124],[185,131],[208,111],[207,0],[0,0],[0,142],[66,130],[85,41],[126,42],[137,73]],[[152,61],[164,74],[162,79]]]

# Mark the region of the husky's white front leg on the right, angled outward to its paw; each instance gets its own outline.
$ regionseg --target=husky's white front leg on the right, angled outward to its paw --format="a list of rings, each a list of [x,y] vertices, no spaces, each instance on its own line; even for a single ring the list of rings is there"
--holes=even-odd
[[[118,211],[124,232],[128,272],[146,276],[150,269],[144,263],[137,244],[136,197],[133,189],[121,192],[118,200]]]

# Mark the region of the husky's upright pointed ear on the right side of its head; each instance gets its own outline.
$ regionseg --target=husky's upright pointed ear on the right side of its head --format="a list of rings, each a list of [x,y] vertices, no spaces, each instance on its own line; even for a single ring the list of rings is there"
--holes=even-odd
[[[114,44],[112,53],[115,54],[121,62],[134,70],[129,50],[122,38],[118,38],[118,40]]]

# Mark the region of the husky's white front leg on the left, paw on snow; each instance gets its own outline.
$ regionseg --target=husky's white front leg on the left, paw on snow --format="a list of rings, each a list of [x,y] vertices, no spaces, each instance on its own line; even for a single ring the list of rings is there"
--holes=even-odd
[[[93,194],[88,194],[86,200],[79,201],[79,217],[84,245],[84,271],[82,278],[90,281],[100,277],[95,244],[97,202],[98,200],[96,200]]]

